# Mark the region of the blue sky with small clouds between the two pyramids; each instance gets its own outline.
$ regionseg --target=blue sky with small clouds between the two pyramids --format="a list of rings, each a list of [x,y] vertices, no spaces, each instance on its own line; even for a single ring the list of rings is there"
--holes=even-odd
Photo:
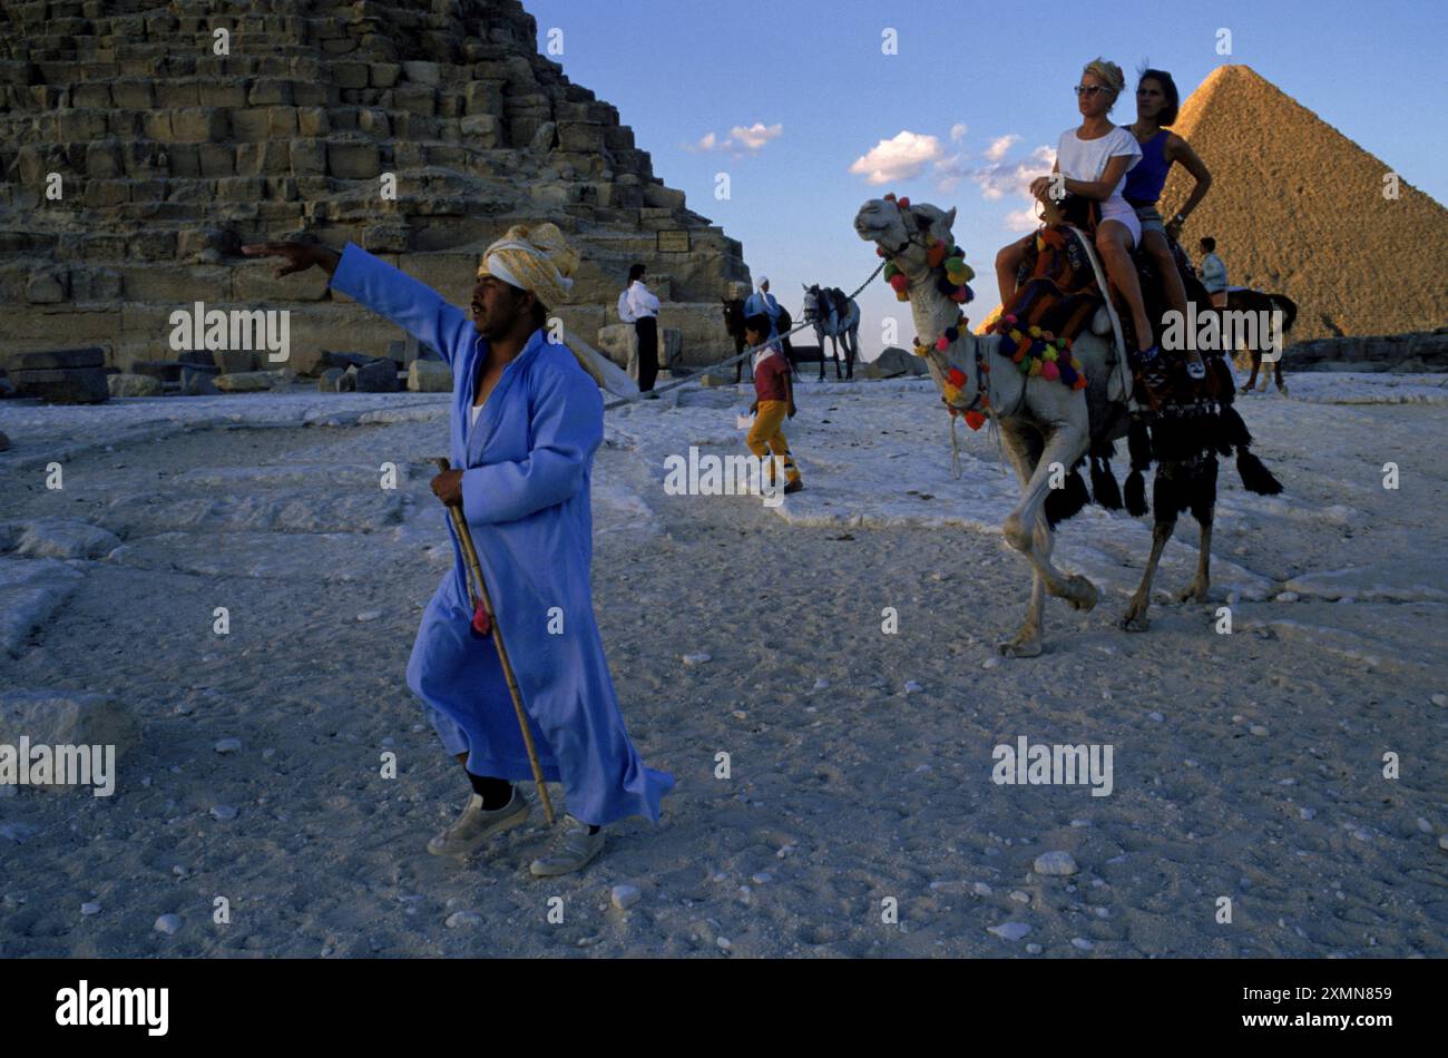
[[[654,172],[744,243],[753,274],[769,275],[796,316],[801,282],[853,289],[864,279],[876,258],[850,223],[866,198],[896,191],[959,208],[956,240],[980,274],[967,314],[980,320],[998,301],[990,262],[1015,234],[1011,214],[1025,200],[1014,191],[990,200],[969,175],[941,188],[930,165],[872,185],[851,165],[880,140],[909,132],[934,136],[937,156],[959,156],[963,172],[995,165],[996,182],[1006,187],[1035,148],[1054,146],[1077,123],[1072,85],[1096,55],[1118,62],[1128,78],[1150,59],[1171,71],[1183,97],[1216,65],[1247,64],[1403,179],[1448,201],[1441,98],[1448,4],[1438,0],[1053,3],[1038,9],[1048,32],[1024,30],[1019,4],[975,0],[524,6],[539,22],[540,49],[550,29],[563,30],[563,54],[552,58],[618,107],[653,155]],[[882,54],[886,27],[896,30],[896,55]],[[1231,30],[1229,56],[1216,51],[1222,27]],[[1027,48],[1027,41],[1035,43]],[[1124,96],[1112,117],[1129,123],[1134,116]],[[714,149],[699,149],[710,133]],[[1016,139],[992,155],[1008,136]],[[715,198],[720,172],[730,178],[723,201]],[[901,344],[909,342],[908,307],[879,279],[860,307],[866,359],[883,344],[886,316],[901,318]]]

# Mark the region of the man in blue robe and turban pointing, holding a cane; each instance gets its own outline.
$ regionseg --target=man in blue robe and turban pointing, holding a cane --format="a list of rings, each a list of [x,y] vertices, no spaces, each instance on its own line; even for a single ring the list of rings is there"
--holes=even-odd
[[[562,304],[576,255],[553,224],[513,227],[488,247],[472,318],[417,279],[349,243],[337,255],[262,243],[290,275],[319,265],[330,285],[442,352],[453,372],[455,470],[432,488],[462,502],[482,576],[527,711],[543,777],[562,782],[568,819],[530,864],[537,877],[576,871],[602,851],[602,826],[631,815],[657,822],[673,776],[644,767],[623,715],[594,619],[589,564],[594,454],[602,443],[598,385],[562,343],[547,310]],[[472,631],[468,573],[456,534],[453,567],[423,614],[407,685],[473,795],[427,848],[463,855],[527,819],[513,783],[533,777],[491,637]]]

